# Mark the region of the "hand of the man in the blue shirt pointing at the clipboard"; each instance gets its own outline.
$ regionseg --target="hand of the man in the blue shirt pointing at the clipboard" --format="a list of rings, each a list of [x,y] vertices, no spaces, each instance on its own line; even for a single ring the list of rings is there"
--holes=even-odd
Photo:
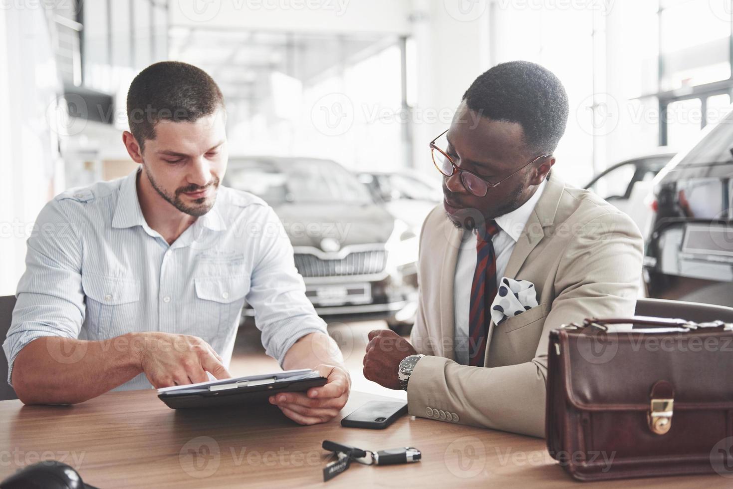
[[[155,389],[206,382],[206,372],[218,379],[230,378],[221,356],[199,337],[187,334],[142,333],[132,340],[140,367]]]

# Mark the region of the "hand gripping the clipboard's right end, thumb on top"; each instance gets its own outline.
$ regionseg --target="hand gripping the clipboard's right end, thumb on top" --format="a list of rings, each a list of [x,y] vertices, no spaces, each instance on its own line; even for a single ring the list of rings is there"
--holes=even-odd
[[[346,404],[351,389],[351,378],[345,369],[333,365],[314,368],[328,383],[302,392],[284,392],[270,396],[270,404],[277,405],[285,416],[299,424],[325,423],[334,419]]]

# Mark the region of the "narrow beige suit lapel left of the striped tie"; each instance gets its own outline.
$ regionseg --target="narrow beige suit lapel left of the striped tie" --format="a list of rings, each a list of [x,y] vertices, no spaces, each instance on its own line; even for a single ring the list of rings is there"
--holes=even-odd
[[[448,359],[454,357],[454,334],[455,334],[455,312],[453,301],[453,282],[456,273],[456,261],[460,249],[463,232],[445,220],[443,223],[443,235],[446,237],[446,247],[443,250],[443,269],[441,270],[441,338],[448,338],[449,341],[441,342],[438,348],[445,346],[442,355]]]

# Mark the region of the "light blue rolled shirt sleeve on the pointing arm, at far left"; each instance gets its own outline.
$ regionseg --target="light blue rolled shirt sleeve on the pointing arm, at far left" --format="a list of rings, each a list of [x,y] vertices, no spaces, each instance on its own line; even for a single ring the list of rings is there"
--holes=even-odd
[[[40,337],[77,338],[84,322],[80,224],[67,217],[65,205],[59,199],[48,202],[27,241],[26,271],[3,343],[11,385],[15,357],[23,347]]]

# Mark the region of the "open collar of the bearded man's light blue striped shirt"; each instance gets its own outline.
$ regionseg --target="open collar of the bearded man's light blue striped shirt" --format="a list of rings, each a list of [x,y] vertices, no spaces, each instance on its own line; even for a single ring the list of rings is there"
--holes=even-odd
[[[141,170],[142,167],[139,166],[122,180],[122,185],[119,187],[119,196],[117,197],[117,207],[115,207],[114,216],[112,217],[112,227],[142,226],[146,231],[152,232],[152,229],[147,225],[147,221],[145,221],[145,216],[142,214],[137,194],[137,177]],[[197,218],[194,224],[212,231],[224,231],[226,229],[226,223],[219,212],[219,207],[221,207],[219,201],[222,197],[221,194],[224,193],[223,191],[224,188],[220,186],[216,192],[213,207],[209,212]]]

